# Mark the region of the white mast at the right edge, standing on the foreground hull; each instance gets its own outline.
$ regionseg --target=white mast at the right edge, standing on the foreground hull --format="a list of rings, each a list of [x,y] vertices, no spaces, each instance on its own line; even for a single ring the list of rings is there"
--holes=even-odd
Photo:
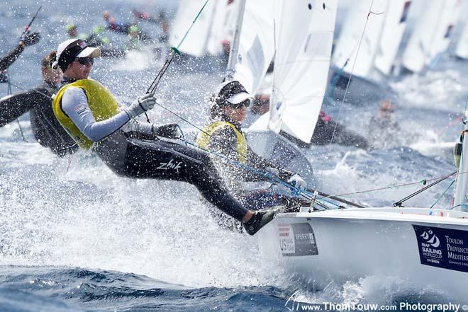
[[[468,207],[464,205],[465,193],[468,181],[468,110],[464,112],[464,136],[462,142],[462,156],[458,167],[457,180],[455,181],[455,194],[453,195],[453,206],[462,212],[468,212]],[[467,158],[467,159],[464,159]],[[461,173],[461,174],[460,174]]]

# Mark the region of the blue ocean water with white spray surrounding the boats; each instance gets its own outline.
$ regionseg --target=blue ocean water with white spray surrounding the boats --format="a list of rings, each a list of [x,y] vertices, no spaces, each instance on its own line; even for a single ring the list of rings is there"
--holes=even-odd
[[[34,30],[43,38],[28,47],[9,69],[21,88],[40,83],[43,54],[66,39],[65,24],[89,33],[108,10],[132,21],[133,8],[169,16],[175,1],[4,1],[0,4],[1,54],[16,44],[30,16],[43,5]],[[342,11],[340,11],[342,15]],[[142,24],[148,33],[155,25]],[[124,38],[106,33],[121,45]],[[125,59],[100,59],[93,77],[130,101],[146,91],[162,59],[152,48]],[[224,63],[215,58],[185,59],[172,65],[157,96],[195,125],[206,121],[206,97],[221,81]],[[423,76],[389,84],[399,96],[394,119],[399,140],[363,151],[352,146],[304,149],[318,188],[330,194],[374,190],[437,178],[455,171],[451,151],[418,151],[455,141],[468,89],[468,65],[445,55]],[[13,87],[13,92],[18,88]],[[0,84],[1,96],[6,84]],[[348,129],[367,135],[379,103],[325,106]],[[150,113],[156,122],[179,122],[167,110]],[[33,140],[28,117],[20,119],[28,142],[13,122],[0,129],[0,311],[290,311],[293,294],[303,303],[446,303],[443,289],[411,289],[407,281],[369,276],[315,289],[313,282],[286,274],[262,259],[255,237],[220,229],[190,185],[118,178],[91,154],[57,159]],[[450,203],[444,181],[407,205]],[[421,183],[347,196],[363,204],[389,205]],[[465,303],[466,304],[466,303]]]

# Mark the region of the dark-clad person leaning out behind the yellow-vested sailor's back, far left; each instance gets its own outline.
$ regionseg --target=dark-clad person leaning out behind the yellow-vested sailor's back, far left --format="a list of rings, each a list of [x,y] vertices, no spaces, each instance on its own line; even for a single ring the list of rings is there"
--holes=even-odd
[[[50,67],[55,61],[55,54],[55,51],[52,51],[42,59],[43,84],[0,99],[0,127],[29,112],[35,139],[57,156],[65,156],[77,151],[78,145],[65,132],[52,112],[51,96],[57,92],[58,83],[62,79],[62,71]]]

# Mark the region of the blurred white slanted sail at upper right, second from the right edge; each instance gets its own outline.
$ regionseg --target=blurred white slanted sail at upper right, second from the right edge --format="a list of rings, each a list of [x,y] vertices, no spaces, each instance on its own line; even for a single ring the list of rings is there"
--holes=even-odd
[[[418,73],[439,53],[447,50],[460,7],[459,0],[425,1],[423,12],[403,53],[401,62],[404,67]]]

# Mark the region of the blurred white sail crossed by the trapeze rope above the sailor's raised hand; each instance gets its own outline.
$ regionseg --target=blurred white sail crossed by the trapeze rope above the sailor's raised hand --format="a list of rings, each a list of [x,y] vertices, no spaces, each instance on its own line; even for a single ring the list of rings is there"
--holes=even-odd
[[[208,4],[206,4],[199,18],[193,24],[190,34],[186,36],[184,42],[179,47],[181,52],[193,55],[194,57],[201,57],[206,54],[208,37],[210,37],[211,33],[211,23],[213,22],[216,3],[218,1],[208,1]],[[206,0],[179,1],[176,17],[171,25],[171,34],[169,37],[170,45],[174,47],[179,45],[205,2]]]

